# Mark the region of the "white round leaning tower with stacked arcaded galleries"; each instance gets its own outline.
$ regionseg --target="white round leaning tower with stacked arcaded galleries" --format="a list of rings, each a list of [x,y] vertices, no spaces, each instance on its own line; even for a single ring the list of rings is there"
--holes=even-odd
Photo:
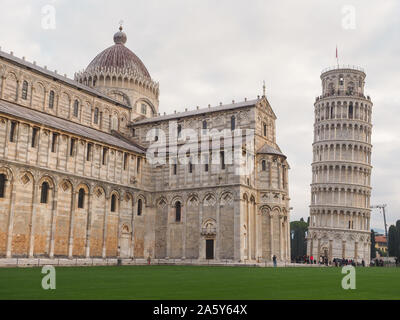
[[[334,67],[321,74],[314,143],[307,254],[370,261],[371,111],[365,72]]]

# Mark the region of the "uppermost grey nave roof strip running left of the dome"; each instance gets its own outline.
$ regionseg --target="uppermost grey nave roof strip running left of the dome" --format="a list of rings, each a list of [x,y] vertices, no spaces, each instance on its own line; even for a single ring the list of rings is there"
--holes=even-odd
[[[83,85],[83,84],[81,84],[81,83],[79,83],[79,82],[77,82],[75,80],[69,79],[69,78],[64,77],[62,75],[59,75],[58,73],[55,73],[53,71],[47,70],[45,68],[42,68],[42,67],[40,67],[40,66],[38,66],[36,64],[30,63],[30,62],[28,62],[28,61],[26,61],[24,59],[20,59],[18,57],[15,57],[14,55],[11,55],[11,54],[6,53],[6,52],[1,51],[1,50],[0,50],[0,57],[4,58],[6,60],[9,60],[9,61],[11,61],[13,63],[22,65],[22,66],[24,66],[26,68],[32,69],[34,71],[37,71],[38,73],[41,73],[44,76],[57,79],[57,80],[59,80],[61,82],[64,82],[64,83],[70,85],[70,86],[73,86],[73,87],[75,87],[75,88],[77,88],[79,90],[83,90],[88,94],[95,95],[97,97],[105,99],[110,103],[113,103],[113,104],[116,104],[116,105],[120,105],[120,106],[123,106],[125,108],[130,108],[129,106],[126,106],[126,105],[120,103],[119,101],[114,100],[114,99],[106,96],[105,94],[101,93],[100,91],[97,91],[96,89],[93,89],[91,87],[85,86],[85,85]]]

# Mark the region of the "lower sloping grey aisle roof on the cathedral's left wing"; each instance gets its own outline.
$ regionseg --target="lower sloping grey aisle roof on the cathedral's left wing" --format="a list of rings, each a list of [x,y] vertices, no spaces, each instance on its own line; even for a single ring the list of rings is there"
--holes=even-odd
[[[129,143],[127,140],[121,140],[112,134],[92,129],[79,123],[26,108],[8,101],[0,100],[0,114],[1,113],[15,116],[20,119],[25,119],[36,124],[42,124],[47,127],[62,130],[67,133],[76,134],[100,143],[112,145],[135,153],[144,153],[143,149],[135,145],[133,142]]]

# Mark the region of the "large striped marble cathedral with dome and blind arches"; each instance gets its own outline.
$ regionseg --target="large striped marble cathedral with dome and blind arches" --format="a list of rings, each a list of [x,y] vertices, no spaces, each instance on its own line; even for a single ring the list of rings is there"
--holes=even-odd
[[[0,52],[0,256],[289,261],[289,165],[265,94],[160,115],[126,41],[120,28],[74,80]],[[235,174],[222,149],[150,164],[147,133],[171,121],[254,130],[254,170]]]

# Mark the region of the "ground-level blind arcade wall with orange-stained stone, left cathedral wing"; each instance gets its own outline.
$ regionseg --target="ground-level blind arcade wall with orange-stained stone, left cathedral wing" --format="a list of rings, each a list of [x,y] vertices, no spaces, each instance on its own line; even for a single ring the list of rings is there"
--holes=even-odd
[[[115,257],[128,232],[128,255],[143,256],[132,232],[145,214],[143,194],[23,167],[0,167],[2,182],[0,255]]]

